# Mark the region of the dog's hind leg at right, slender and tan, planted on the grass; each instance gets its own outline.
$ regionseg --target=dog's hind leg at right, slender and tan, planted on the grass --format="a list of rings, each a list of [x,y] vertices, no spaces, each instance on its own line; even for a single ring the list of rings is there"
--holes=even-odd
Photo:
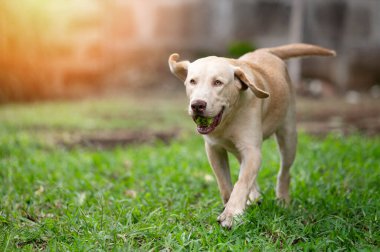
[[[289,107],[285,123],[276,132],[276,140],[281,155],[281,166],[277,176],[276,197],[289,203],[290,167],[292,166],[297,149],[297,130],[295,107]]]

